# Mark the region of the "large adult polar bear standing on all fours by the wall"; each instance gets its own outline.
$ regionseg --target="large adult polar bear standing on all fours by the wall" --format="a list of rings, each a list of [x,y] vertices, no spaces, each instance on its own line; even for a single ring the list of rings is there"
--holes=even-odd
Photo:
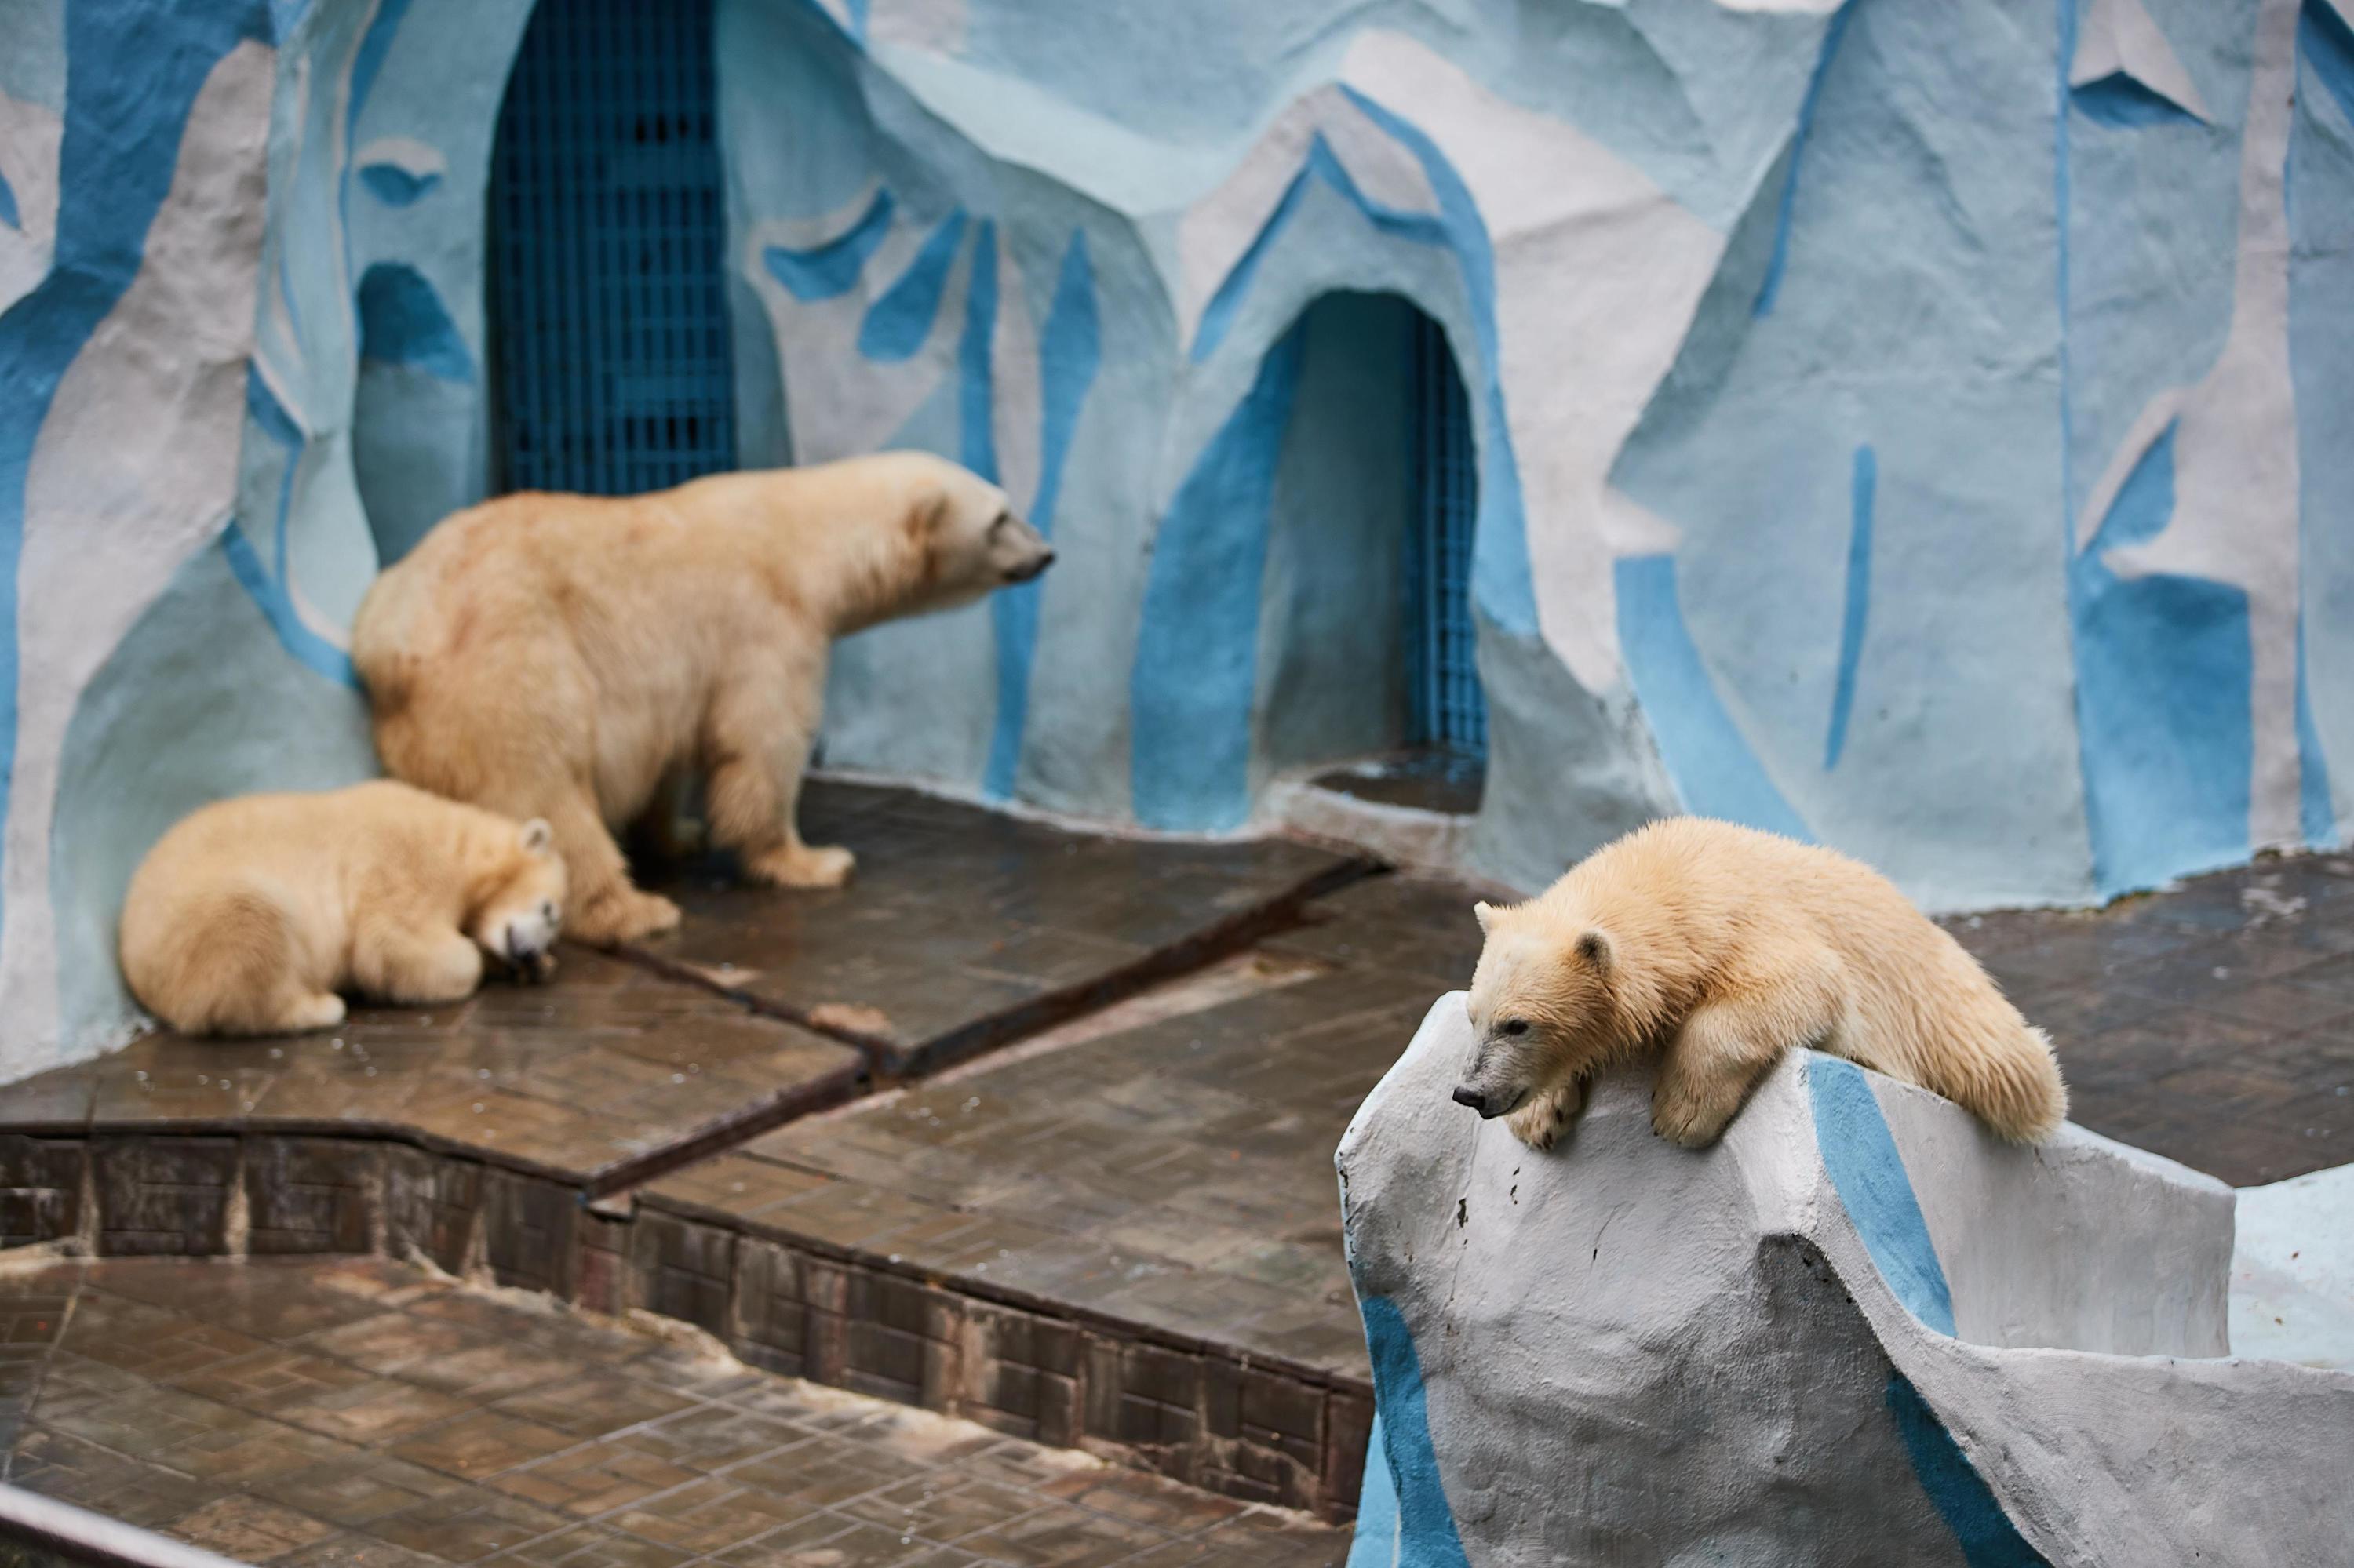
[[[612,829],[680,770],[711,838],[779,888],[838,888],[850,850],[793,810],[836,636],[1029,582],[1055,551],[1005,492],[925,452],[718,473],[640,497],[508,494],[454,513],[377,577],[351,629],[384,765],[457,800],[546,817],[572,935],[678,923]]]

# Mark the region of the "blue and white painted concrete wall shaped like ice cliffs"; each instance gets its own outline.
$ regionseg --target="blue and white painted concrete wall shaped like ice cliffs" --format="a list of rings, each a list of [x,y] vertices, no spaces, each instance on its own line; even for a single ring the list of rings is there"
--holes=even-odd
[[[716,7],[744,461],[935,447],[1062,553],[845,645],[829,763],[1224,831],[1375,737],[1389,297],[1478,443],[1471,869],[1681,805],[1966,906],[2340,836],[2354,0]],[[129,1024],[165,822],[372,768],[527,14],[0,0],[0,1071]]]

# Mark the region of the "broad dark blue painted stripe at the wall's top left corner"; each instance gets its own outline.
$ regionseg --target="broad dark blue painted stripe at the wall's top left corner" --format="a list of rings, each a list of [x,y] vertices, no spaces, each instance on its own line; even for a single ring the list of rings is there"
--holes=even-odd
[[[238,42],[268,40],[259,0],[68,5],[56,245],[0,311],[0,822],[16,765],[16,600],[26,476],[66,370],[139,275],[195,94]]]

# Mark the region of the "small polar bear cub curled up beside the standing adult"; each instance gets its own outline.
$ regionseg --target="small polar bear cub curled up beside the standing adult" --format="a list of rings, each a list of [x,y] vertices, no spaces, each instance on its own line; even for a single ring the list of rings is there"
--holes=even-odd
[[[184,1034],[330,1029],[346,989],[471,996],[485,951],[544,977],[563,906],[546,822],[391,779],[240,796],[184,817],[139,864],[122,977]]]

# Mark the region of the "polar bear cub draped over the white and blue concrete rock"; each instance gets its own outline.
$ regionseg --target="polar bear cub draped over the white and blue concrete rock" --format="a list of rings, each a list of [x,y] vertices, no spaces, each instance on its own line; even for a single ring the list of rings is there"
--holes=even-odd
[[[1916,1083],[1999,1135],[2036,1142],[2067,1088],[1977,961],[1878,871],[1704,817],[1603,845],[1544,895],[1476,909],[1478,1048],[1455,1099],[1549,1149],[1587,1081],[1660,1057],[1650,1125],[1716,1140],[1784,1050]]]

